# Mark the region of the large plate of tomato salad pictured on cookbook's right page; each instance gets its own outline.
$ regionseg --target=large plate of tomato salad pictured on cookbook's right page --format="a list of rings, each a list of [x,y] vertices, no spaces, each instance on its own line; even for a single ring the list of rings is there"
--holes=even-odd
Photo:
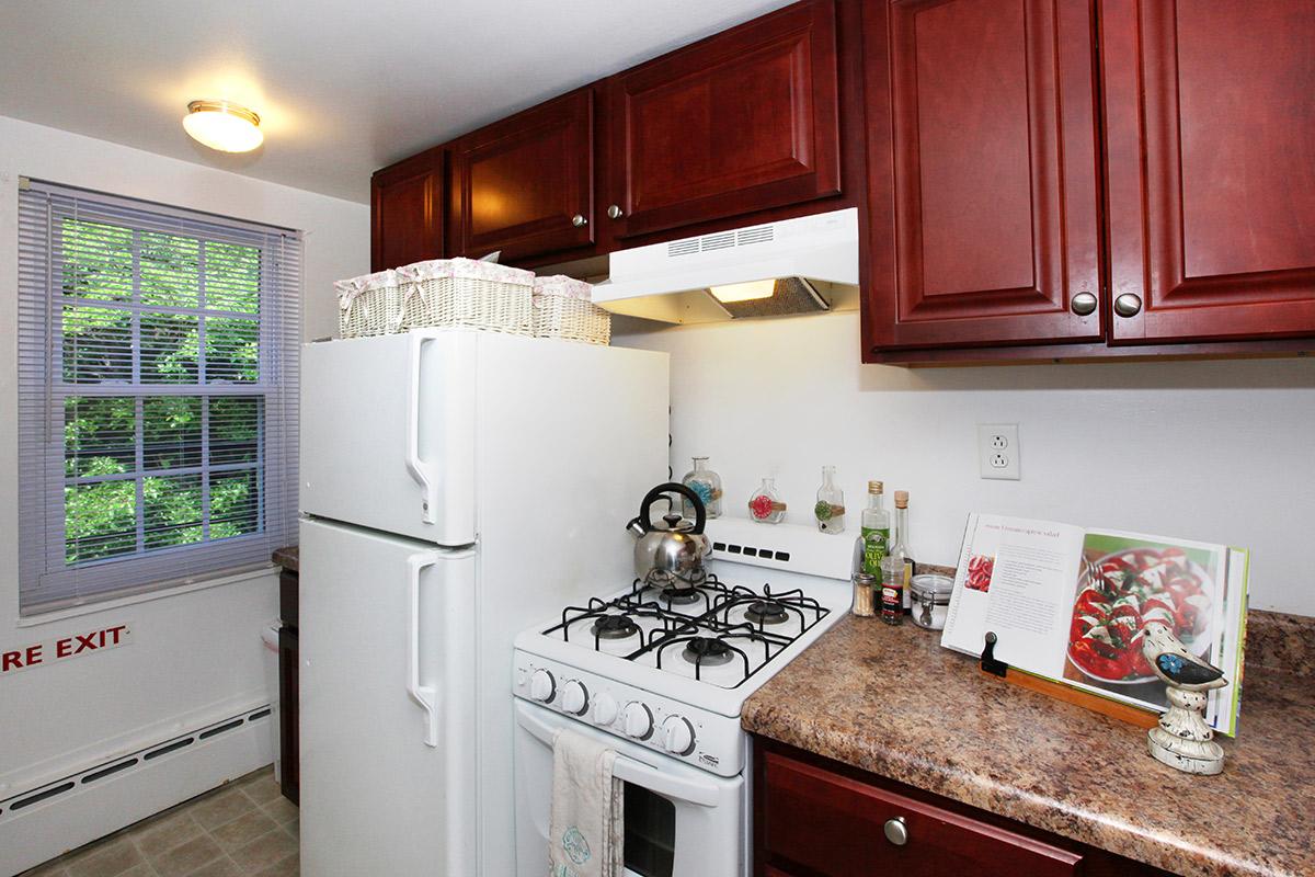
[[[1160,623],[1203,655],[1214,582],[1182,548],[1128,548],[1086,567],[1069,627],[1069,660],[1101,682],[1155,680],[1141,653],[1147,625]]]

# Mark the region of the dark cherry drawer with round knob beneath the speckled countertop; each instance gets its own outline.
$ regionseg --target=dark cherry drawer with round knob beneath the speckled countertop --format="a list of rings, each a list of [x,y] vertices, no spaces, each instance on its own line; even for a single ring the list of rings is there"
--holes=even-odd
[[[763,755],[763,845],[778,868],[828,877],[1061,877],[1082,863],[1081,853],[776,752]],[[903,845],[886,839],[890,819],[903,820]]]

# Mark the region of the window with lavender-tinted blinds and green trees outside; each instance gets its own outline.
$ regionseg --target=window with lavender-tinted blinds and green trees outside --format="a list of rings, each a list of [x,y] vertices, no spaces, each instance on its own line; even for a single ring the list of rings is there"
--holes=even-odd
[[[300,297],[297,231],[24,183],[24,614],[296,540]]]

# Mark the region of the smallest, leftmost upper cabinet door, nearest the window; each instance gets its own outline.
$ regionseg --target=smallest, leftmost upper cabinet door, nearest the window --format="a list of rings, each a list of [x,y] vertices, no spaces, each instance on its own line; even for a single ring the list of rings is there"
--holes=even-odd
[[[375,172],[371,271],[443,258],[443,153],[429,150]]]

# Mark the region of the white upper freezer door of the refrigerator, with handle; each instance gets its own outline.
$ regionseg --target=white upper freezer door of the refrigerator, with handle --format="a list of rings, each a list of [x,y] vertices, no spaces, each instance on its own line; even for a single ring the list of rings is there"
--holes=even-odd
[[[301,510],[441,546],[475,542],[475,333],[305,344]]]

